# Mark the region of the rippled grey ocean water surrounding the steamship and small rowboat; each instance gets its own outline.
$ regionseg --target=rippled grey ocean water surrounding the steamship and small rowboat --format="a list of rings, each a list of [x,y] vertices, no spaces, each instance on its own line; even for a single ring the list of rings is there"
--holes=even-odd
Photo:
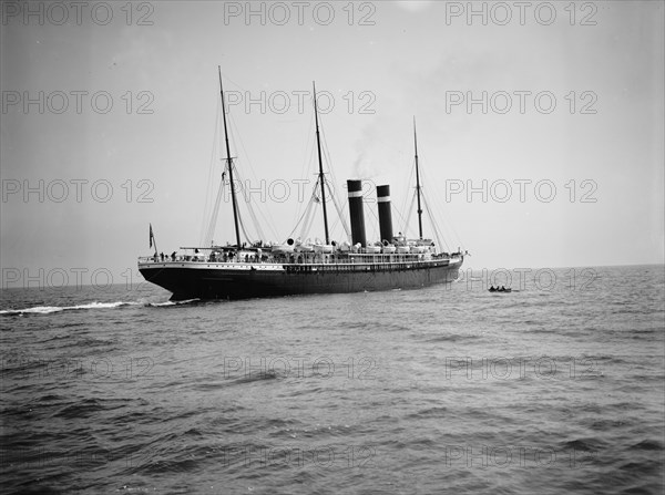
[[[0,489],[663,493],[664,268],[491,275],[232,302],[4,290]]]

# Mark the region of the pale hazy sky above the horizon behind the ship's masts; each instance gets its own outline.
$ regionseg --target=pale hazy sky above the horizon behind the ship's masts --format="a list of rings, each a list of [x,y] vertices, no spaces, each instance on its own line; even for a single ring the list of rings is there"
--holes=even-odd
[[[2,2],[3,287],[8,268],[123,282],[150,223],[161,251],[202,240],[217,65],[266,240],[290,234],[316,178],[316,81],[342,203],[347,178],[390,184],[402,228],[416,116],[426,197],[467,266],[663,262],[663,2],[247,6]],[[217,243],[234,239],[229,207]]]

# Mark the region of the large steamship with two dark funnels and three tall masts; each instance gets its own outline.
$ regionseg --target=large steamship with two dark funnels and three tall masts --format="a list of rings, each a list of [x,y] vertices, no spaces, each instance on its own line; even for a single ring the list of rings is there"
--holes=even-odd
[[[368,243],[365,230],[365,204],[362,182],[347,181],[350,229],[344,216],[341,225],[347,238],[340,243],[330,239],[326,193],[337,206],[334,190],[326,181],[321,158],[319,118],[314,85],[314,114],[318,178],[313,190],[310,207],[320,204],[325,239],[301,240],[288,238],[282,244],[242,241],[245,229],[239,217],[238,198],[234,175],[237,167],[232,158],[226,123],[224,87],[219,70],[219,94],[224,121],[226,161],[222,184],[211,227],[202,247],[182,247],[172,255],[139,258],[139,270],[146,281],[172,292],[171,300],[187,299],[247,299],[305,293],[361,292],[391,289],[415,289],[434,283],[451,282],[458,278],[464,255],[439,250],[437,243],[423,237],[422,204],[424,195],[420,186],[418,168],[418,143],[413,122],[416,197],[418,200],[418,238],[409,239],[401,233],[395,235],[390,203],[390,187],[376,188],[380,241]],[[212,231],[217,218],[222,189],[231,189],[235,244],[215,245]],[[341,209],[337,208],[338,214]],[[243,226],[243,229],[241,229]],[[350,231],[349,231],[350,230]],[[436,230],[436,228],[434,228]],[[153,246],[152,226],[150,244]]]

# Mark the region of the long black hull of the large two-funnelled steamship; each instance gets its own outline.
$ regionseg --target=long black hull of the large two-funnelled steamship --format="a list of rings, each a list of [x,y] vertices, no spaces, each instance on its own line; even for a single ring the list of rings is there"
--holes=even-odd
[[[248,299],[307,293],[415,289],[458,278],[463,258],[358,265],[142,262],[146,281],[172,300]]]

